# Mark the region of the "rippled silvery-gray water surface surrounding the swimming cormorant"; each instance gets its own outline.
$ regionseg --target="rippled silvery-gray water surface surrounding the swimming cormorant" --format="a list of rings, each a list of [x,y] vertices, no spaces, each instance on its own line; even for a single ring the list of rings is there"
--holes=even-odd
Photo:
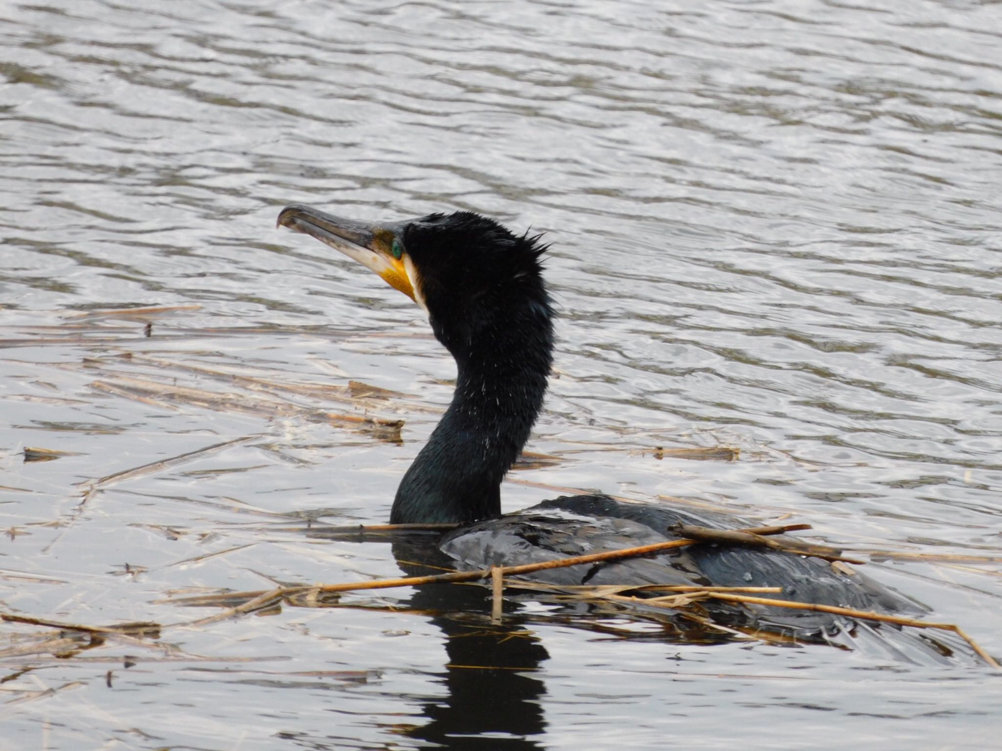
[[[997,4],[41,0],[0,4],[0,609],[164,626],[4,624],[0,747],[997,743],[966,655],[533,602],[495,628],[474,588],[200,627],[162,602],[399,575],[303,520],[388,518],[453,364],[275,218],[466,208],[553,243],[528,449],[561,461],[507,510],[570,487],[810,521],[918,554],[866,570],[1002,653]]]

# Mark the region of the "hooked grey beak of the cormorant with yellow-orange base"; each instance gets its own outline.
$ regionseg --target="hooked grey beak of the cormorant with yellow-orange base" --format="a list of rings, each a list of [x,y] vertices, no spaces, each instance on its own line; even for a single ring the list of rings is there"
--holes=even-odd
[[[395,258],[393,241],[400,223],[368,224],[343,219],[303,203],[292,203],[279,213],[278,226],[309,234],[340,250],[350,258],[378,273],[386,283],[417,301],[414,284],[404,257]]]

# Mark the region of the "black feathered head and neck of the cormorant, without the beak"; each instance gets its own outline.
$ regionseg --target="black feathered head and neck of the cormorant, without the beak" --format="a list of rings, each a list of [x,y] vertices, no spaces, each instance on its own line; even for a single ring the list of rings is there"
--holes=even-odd
[[[501,479],[529,439],[553,359],[545,248],[469,211],[426,216],[403,239],[457,373],[452,404],[404,475],[390,522],[495,517]]]

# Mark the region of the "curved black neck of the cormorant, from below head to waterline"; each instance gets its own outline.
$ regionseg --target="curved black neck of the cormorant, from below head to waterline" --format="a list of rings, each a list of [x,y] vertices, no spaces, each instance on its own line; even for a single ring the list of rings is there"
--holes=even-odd
[[[541,287],[540,287],[541,289]],[[552,361],[549,301],[494,309],[459,332],[435,334],[458,368],[445,417],[407,471],[392,524],[467,523],[501,513],[501,480],[543,405]]]

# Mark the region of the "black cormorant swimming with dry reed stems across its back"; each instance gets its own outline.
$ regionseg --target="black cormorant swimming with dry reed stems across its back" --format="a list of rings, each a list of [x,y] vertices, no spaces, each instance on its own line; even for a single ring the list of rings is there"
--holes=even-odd
[[[553,308],[542,276],[546,245],[470,211],[373,224],[302,204],[280,226],[309,234],[362,262],[428,313],[456,360],[456,391],[445,417],[404,475],[390,521],[458,523],[440,550],[459,568],[507,566],[674,539],[677,523],[754,526],[729,516],[623,503],[607,496],[545,501],[501,515],[502,478],[529,439],[553,359]],[[784,599],[863,610],[914,604],[859,574],[816,558],[695,545],[649,558],[554,569],[554,584],[782,586]],[[846,619],[778,608],[720,606],[749,628],[825,638]],[[719,614],[717,614],[719,615]]]

